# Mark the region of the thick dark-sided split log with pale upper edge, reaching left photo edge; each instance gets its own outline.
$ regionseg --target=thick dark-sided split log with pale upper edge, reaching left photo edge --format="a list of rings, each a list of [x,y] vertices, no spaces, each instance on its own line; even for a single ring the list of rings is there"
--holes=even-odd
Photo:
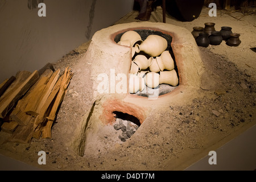
[[[31,86],[38,81],[38,79],[38,71],[35,71],[25,81],[19,82],[19,84],[13,88],[12,92],[3,94],[3,96],[0,98],[0,118],[5,117],[16,102],[18,102],[20,97],[22,97],[28,91],[28,89],[30,89]]]

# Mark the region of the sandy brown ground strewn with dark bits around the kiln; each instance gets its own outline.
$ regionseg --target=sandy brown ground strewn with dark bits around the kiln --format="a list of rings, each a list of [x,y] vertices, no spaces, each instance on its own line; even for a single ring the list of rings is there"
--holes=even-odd
[[[250,48],[256,47],[256,14],[243,16],[239,11],[218,10],[217,17],[209,17],[208,11],[204,7],[192,22],[179,22],[169,15],[166,20],[189,31],[214,22],[216,30],[230,26],[241,34],[238,47],[229,47],[225,42],[199,47],[209,72],[191,103],[156,110],[126,142],[118,138],[120,133],[113,126],[106,126],[83,157],[76,155],[67,141],[94,102],[90,90],[93,63],[81,61],[90,43],[87,42],[54,63],[55,69],[69,66],[75,75],[52,127],[52,139],[10,143],[7,140],[11,135],[1,131],[0,153],[47,170],[180,170],[255,125],[256,53]],[[134,19],[137,15],[138,11],[132,11],[117,23],[139,22]],[[160,7],[154,10],[150,21],[162,22]],[[39,166],[38,152],[42,150],[46,151],[47,165]]]

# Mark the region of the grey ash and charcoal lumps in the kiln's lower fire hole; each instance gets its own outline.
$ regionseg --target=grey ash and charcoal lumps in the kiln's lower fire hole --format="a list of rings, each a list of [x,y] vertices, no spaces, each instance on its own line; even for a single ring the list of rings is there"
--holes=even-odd
[[[131,138],[138,128],[139,126],[135,123],[120,118],[117,118],[117,123],[114,125],[114,129],[121,132],[118,138],[122,142],[125,142],[127,139]]]

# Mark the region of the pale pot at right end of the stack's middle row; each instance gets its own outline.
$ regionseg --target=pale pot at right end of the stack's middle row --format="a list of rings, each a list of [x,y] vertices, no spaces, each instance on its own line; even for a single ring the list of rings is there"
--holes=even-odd
[[[164,69],[171,71],[174,69],[174,60],[169,51],[164,51],[161,56],[156,57],[156,61],[160,71],[164,71]]]

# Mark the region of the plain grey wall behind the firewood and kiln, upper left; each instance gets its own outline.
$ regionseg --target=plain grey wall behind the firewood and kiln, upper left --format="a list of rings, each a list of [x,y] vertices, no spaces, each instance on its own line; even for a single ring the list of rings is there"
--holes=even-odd
[[[133,9],[133,0],[44,0],[46,17],[28,0],[0,0],[0,82],[42,68],[109,27]],[[93,19],[92,19],[93,17]]]

